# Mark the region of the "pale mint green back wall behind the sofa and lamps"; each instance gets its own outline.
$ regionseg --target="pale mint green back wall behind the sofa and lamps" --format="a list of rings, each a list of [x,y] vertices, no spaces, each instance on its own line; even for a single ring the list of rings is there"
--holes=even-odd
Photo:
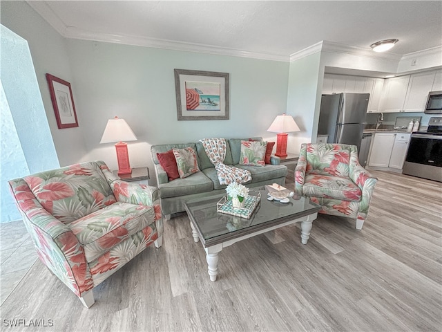
[[[100,145],[109,118],[119,116],[138,138],[129,142],[132,167],[151,166],[150,147],[209,137],[263,136],[286,110],[289,64],[243,57],[68,39],[84,160],[117,165],[112,144]],[[178,121],[174,68],[229,73],[230,119]]]

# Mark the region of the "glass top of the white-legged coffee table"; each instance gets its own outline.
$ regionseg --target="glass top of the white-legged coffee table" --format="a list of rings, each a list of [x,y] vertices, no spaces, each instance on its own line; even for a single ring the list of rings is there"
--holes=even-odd
[[[249,219],[217,212],[216,203],[225,194],[186,202],[189,219],[200,234],[204,246],[220,243],[236,236],[240,237],[271,225],[314,214],[320,210],[320,205],[312,203],[308,197],[295,194],[288,203],[280,203],[279,201],[268,201],[267,191],[264,187],[251,188],[250,190],[260,191],[261,199]]]

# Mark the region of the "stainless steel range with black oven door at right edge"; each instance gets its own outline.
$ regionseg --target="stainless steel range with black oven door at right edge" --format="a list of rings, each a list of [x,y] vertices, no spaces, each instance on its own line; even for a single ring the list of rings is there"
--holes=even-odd
[[[427,131],[412,133],[402,173],[442,182],[442,118],[430,118]]]

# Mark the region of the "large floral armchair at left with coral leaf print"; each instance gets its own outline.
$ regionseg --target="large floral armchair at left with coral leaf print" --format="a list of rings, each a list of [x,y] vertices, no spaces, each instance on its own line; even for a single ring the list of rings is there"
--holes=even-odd
[[[39,258],[88,308],[95,286],[152,243],[162,245],[160,191],[120,181],[102,161],[9,185]]]

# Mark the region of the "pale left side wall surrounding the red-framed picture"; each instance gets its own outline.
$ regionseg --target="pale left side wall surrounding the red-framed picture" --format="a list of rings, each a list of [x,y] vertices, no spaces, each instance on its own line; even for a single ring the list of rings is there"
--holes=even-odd
[[[86,154],[84,120],[77,113],[79,127],[58,129],[46,82],[46,73],[50,73],[72,84],[66,40],[25,1],[0,1],[0,6],[1,24],[28,42],[59,163],[70,165]],[[73,96],[76,102],[75,85]]]

